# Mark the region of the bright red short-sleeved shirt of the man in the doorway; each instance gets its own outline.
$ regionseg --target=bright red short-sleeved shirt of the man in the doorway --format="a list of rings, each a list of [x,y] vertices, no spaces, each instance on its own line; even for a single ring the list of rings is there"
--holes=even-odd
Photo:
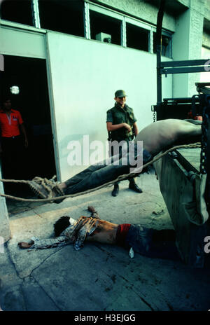
[[[11,109],[10,116],[0,111],[1,137],[15,137],[20,135],[19,125],[23,123],[19,111]]]

